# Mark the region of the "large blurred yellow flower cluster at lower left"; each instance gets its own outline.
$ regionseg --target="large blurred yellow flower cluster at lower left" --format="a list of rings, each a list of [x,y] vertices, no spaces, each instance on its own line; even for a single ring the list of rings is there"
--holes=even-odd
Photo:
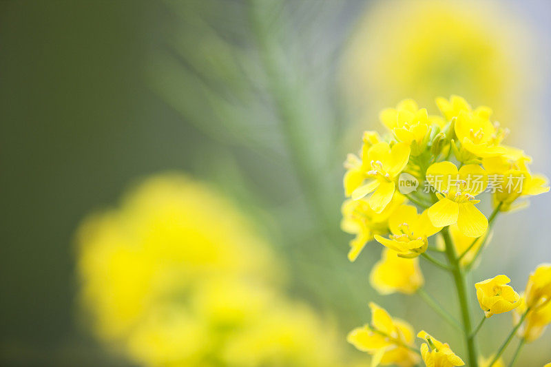
[[[78,231],[80,300],[101,341],[143,366],[335,366],[333,328],[284,295],[277,256],[214,191],[145,180]]]

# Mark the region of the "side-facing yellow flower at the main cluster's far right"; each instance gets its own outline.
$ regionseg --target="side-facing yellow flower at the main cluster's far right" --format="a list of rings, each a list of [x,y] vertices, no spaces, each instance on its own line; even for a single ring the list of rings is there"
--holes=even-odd
[[[532,158],[525,154],[517,159],[497,156],[482,160],[482,165],[488,171],[488,181],[492,182],[494,205],[501,203],[500,211],[525,207],[526,204],[517,204],[516,200],[549,191],[548,178],[541,174],[530,173],[528,163],[531,161]]]

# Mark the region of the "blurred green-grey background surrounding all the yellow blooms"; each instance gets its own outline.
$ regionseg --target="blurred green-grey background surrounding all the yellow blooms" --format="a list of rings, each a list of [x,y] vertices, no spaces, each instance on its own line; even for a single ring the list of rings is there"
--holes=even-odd
[[[536,60],[549,65],[549,4],[507,4],[539,32]],[[337,315],[343,332],[368,321],[368,300],[416,316],[419,300],[381,297],[368,285],[380,247],[351,264],[350,236],[339,229],[342,161],[360,146],[362,129],[378,129],[376,112],[358,125],[339,82],[342,50],[368,6],[1,1],[0,365],[127,365],[79,323],[74,230],[132,182],[167,169],[214,182],[257,218],[289,263],[289,293]],[[529,144],[549,176],[551,163],[539,155],[551,136],[548,73],[541,76],[545,89],[516,126],[515,143]],[[522,289],[528,272],[550,260],[548,238],[537,231],[551,202],[538,199],[497,224],[504,260],[488,260],[475,277],[507,269]],[[436,290],[447,280],[433,271],[424,266]],[[509,319],[492,322],[510,327]],[[439,322],[424,316],[413,324]],[[548,334],[530,348],[543,350]],[[544,356],[525,354],[543,364]]]

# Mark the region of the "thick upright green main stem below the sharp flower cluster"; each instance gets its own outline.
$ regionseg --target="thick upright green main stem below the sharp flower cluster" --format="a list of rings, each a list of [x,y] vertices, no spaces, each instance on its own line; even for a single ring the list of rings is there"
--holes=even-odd
[[[446,242],[446,256],[450,263],[450,271],[453,275],[455,282],[455,289],[457,291],[457,297],[459,299],[459,308],[461,308],[461,320],[463,322],[463,331],[465,335],[465,343],[468,351],[468,366],[478,367],[477,349],[475,346],[475,338],[470,337],[472,323],[470,319],[470,306],[468,302],[467,287],[465,274],[463,273],[459,261],[455,255],[455,249],[453,242],[448,231],[448,227],[442,229],[440,232],[444,242]]]

